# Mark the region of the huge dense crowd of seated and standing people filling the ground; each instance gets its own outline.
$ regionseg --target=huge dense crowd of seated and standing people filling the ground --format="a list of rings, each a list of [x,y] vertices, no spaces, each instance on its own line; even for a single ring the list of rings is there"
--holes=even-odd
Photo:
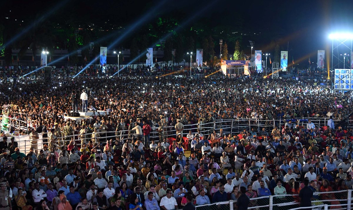
[[[242,75],[2,80],[0,208],[172,210],[232,199],[246,209],[258,205],[249,198],[270,195],[293,194],[278,202],[301,205],[310,192],[333,198],[329,192],[353,185],[353,131],[338,124],[352,98],[313,82]],[[104,115],[64,120],[72,110]],[[325,117],[325,127],[296,120]],[[265,123],[233,133],[203,127],[232,119]],[[20,151],[16,135],[28,135],[32,148]]]

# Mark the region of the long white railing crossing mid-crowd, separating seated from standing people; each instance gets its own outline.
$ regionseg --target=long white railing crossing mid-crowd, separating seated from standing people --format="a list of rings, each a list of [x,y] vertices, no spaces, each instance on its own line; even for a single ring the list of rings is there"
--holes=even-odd
[[[2,115],[0,115],[2,117]],[[303,119],[303,118],[301,118]],[[317,127],[322,127],[326,125],[328,118],[306,118],[306,119],[311,119],[312,122],[317,125]],[[18,132],[21,130],[22,133],[30,133],[30,131],[27,131],[27,127],[29,124],[28,121],[24,120],[18,120],[18,119],[13,119],[12,117],[9,117],[8,119],[8,128],[15,128],[15,133],[16,135]],[[337,122],[337,121],[336,121]],[[2,121],[0,121],[0,127],[2,127]],[[317,124],[316,124],[317,123]],[[321,123],[321,124],[320,124]],[[301,122],[300,126],[304,126],[306,128],[306,123]],[[271,133],[273,127],[275,125],[279,125],[279,129],[282,129],[282,126],[285,125],[284,120],[262,120],[262,119],[225,119],[225,120],[215,120],[214,122],[208,122],[208,123],[196,123],[192,125],[184,125],[184,131],[183,131],[183,136],[186,137],[186,135],[189,133],[189,131],[192,132],[192,134],[196,134],[197,130],[200,129],[201,133],[204,135],[203,138],[208,138],[208,135],[213,133],[213,131],[216,131],[217,133],[220,132],[220,129],[223,129],[223,133],[229,134],[231,133],[232,135],[237,135],[239,132],[243,131],[244,129],[246,131],[251,131],[251,128],[255,128],[255,131],[259,132],[263,127],[265,127],[265,131],[267,131],[269,134]],[[150,133],[150,140],[155,140],[156,142],[159,141],[159,136],[157,132],[158,125],[154,127],[154,129]],[[18,131],[16,131],[18,129]],[[164,127],[165,131],[163,132],[163,138],[176,138],[176,131],[174,126],[166,126]],[[62,129],[61,129],[62,130]],[[91,140],[91,134],[93,131],[90,131],[90,133],[86,134],[85,141],[88,143]],[[129,133],[130,132],[130,133]],[[119,138],[121,142],[124,142],[125,139],[131,138],[130,136],[135,133],[135,131],[132,130],[123,130],[123,131],[100,131],[98,132],[101,135],[101,139],[110,139],[110,138]],[[37,143],[38,145],[42,145],[43,142],[46,143],[48,141],[48,138],[42,138],[41,134],[41,141],[42,143]],[[74,134],[70,136],[65,136],[63,132],[61,132],[61,138],[58,139],[60,142],[65,142],[65,141],[70,141],[71,137],[73,137],[75,140],[77,140],[77,145],[80,146],[80,140],[81,138],[79,137],[80,134]],[[24,137],[22,136],[20,139],[22,140]],[[29,136],[27,137],[29,139]],[[26,143],[26,147],[23,148],[23,151],[29,151],[28,146],[30,143]],[[146,145],[145,145],[146,146]],[[40,146],[38,146],[39,149]]]

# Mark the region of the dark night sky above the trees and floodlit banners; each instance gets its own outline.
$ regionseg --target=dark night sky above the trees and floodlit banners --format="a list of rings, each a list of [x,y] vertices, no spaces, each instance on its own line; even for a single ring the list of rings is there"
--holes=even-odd
[[[146,25],[155,22],[158,17],[173,17],[178,21],[177,32],[183,33],[193,27],[210,33],[216,43],[216,54],[219,53],[218,39],[227,42],[227,37],[220,33],[222,30],[220,28],[227,28],[229,31],[243,33],[241,49],[246,54],[250,54],[248,40],[255,42],[254,50],[271,54],[274,53],[273,42],[280,45],[280,50],[287,50],[289,42],[288,58],[291,61],[293,56],[295,62],[300,62],[300,58],[305,55],[310,55],[313,61],[317,56],[317,50],[331,51],[332,42],[328,39],[329,33],[353,30],[353,1],[340,0],[241,2],[35,0],[3,1],[0,5],[2,8],[0,20],[3,21],[5,30],[15,30],[17,33],[23,31],[25,27],[30,27],[30,24],[38,23],[38,19],[60,25],[92,23],[96,26],[105,24],[104,27],[107,27],[110,24],[114,27],[120,26],[123,31],[131,29],[130,33],[116,44],[128,48],[131,37]],[[48,15],[44,15],[46,13]],[[6,19],[7,17],[9,19]],[[21,22],[22,20],[24,22]],[[132,27],[138,21],[140,25]],[[120,36],[123,33],[120,32]],[[229,43],[229,54],[232,54],[234,45],[230,41]],[[196,40],[196,47],[201,47],[200,44]],[[307,60],[301,62],[305,63]]]

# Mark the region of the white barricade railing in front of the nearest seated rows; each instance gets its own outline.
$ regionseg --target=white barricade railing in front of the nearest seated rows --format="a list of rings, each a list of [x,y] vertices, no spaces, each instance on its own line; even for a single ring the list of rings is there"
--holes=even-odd
[[[247,209],[266,209],[266,210],[297,210],[297,209],[347,209],[352,207],[352,191],[340,190],[331,192],[315,192],[310,207],[300,207],[299,195],[271,195],[257,198],[250,198]],[[196,205],[196,210],[234,210],[237,201],[225,201],[204,205]]]

